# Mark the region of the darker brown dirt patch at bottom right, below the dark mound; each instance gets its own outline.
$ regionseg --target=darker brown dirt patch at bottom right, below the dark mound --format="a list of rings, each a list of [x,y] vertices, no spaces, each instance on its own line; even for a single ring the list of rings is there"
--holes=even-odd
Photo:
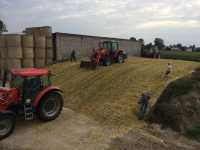
[[[200,143],[186,139],[170,129],[152,125],[142,130],[131,130],[114,138],[107,150],[199,150]]]

